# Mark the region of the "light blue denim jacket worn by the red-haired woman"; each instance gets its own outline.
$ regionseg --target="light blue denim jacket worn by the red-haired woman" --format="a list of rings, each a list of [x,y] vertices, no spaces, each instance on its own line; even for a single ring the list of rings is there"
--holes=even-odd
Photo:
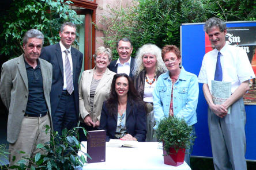
[[[170,72],[161,74],[153,90],[153,106],[156,121],[169,116],[171,102],[172,82]],[[197,123],[198,102],[198,79],[197,76],[185,71],[182,67],[179,78],[174,84],[173,109],[174,116],[183,118],[188,125]],[[156,126],[154,127],[156,128]]]

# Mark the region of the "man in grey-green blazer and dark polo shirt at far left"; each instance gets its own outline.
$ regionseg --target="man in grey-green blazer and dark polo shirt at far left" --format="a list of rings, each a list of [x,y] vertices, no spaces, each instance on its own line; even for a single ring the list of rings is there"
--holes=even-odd
[[[10,143],[10,166],[24,155],[35,156],[40,152],[36,145],[50,141],[45,125],[52,125],[52,65],[39,59],[43,38],[39,30],[28,30],[23,38],[24,53],[2,65],[0,94],[9,111],[7,141]],[[16,157],[14,161],[13,156]]]

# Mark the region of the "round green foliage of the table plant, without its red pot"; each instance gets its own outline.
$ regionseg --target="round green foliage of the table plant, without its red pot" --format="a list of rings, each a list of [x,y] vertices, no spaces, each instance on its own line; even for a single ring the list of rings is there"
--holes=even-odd
[[[169,154],[169,148],[174,148],[176,152],[179,149],[187,149],[194,141],[195,137],[191,136],[193,127],[187,125],[184,119],[177,117],[165,117],[157,122],[156,138],[164,142],[164,149]]]

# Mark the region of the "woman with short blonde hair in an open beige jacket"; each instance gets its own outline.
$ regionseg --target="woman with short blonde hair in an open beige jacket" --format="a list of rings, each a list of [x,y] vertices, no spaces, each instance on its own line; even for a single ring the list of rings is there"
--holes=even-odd
[[[103,102],[110,93],[110,86],[115,72],[110,71],[111,50],[97,48],[94,57],[95,68],[82,72],[79,83],[79,109],[82,121],[80,126],[86,130],[97,130],[100,125],[100,113]],[[80,140],[86,140],[80,129]]]

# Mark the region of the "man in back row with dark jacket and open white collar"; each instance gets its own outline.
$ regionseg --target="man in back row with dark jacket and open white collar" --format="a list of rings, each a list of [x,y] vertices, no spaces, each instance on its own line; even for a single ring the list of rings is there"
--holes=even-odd
[[[131,57],[133,44],[129,38],[121,38],[116,43],[119,59],[112,60],[108,68],[117,74],[125,73],[130,77],[133,76],[134,59]]]

